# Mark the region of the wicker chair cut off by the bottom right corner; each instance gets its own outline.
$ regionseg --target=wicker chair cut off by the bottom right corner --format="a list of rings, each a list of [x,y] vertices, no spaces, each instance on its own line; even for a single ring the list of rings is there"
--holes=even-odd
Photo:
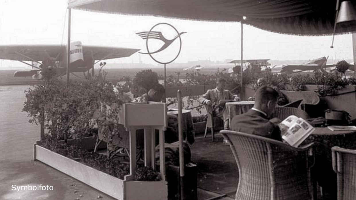
[[[331,152],[337,174],[337,200],[356,199],[356,150],[332,147]]]

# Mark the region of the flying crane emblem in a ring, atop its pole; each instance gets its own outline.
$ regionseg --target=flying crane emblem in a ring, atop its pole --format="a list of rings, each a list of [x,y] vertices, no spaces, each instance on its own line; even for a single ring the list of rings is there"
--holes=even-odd
[[[154,28],[157,28],[158,26],[160,25],[165,25],[165,29],[164,31],[170,31],[169,29],[173,30],[173,31],[170,31],[171,32],[171,35],[173,33],[173,35],[175,35],[173,38],[171,39],[168,39],[166,37],[163,36],[162,34],[162,31],[154,31]],[[164,32],[165,35],[169,35],[169,33],[167,32]],[[148,54],[150,55],[150,57],[155,60],[157,63],[161,63],[161,64],[168,64],[168,63],[171,63],[173,62],[179,55],[180,53],[180,49],[182,49],[182,39],[180,38],[180,35],[182,35],[183,33],[186,33],[186,32],[178,32],[176,28],[174,28],[174,26],[170,25],[169,23],[157,23],[155,26],[153,26],[151,28],[150,31],[145,31],[145,32],[139,32],[139,33],[136,33],[138,36],[142,37],[143,40],[146,40],[146,49],[147,49],[147,53],[144,53],[144,52],[138,52],[138,53],[142,53],[142,54]],[[179,51],[178,50],[178,45],[173,45],[174,41],[176,41],[176,39],[179,38]],[[152,42],[148,42],[149,39],[152,39],[152,41],[156,41],[155,43],[152,43]],[[155,40],[153,40],[155,39]],[[157,43],[157,41],[159,42],[159,44]],[[163,42],[163,44],[162,44]],[[157,49],[156,50],[153,50],[153,51],[150,51],[149,48],[148,48],[148,44],[150,44],[150,46],[155,46]],[[172,44],[172,45],[171,45]],[[169,47],[169,48],[168,48]],[[175,54],[175,57],[173,59],[168,59],[167,60],[167,57],[169,57],[167,55],[167,53],[165,53],[166,56],[164,56],[164,61],[163,61],[163,58],[161,58],[162,60],[159,61],[158,59],[159,58],[154,58],[152,56],[152,54],[162,54],[164,52],[164,50],[171,50],[172,51],[172,48],[176,48],[176,52],[177,54]],[[174,51],[174,50],[173,50]]]

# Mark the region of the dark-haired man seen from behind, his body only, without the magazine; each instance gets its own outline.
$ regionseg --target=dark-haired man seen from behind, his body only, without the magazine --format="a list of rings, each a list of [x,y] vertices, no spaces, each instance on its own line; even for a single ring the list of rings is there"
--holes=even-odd
[[[271,87],[262,86],[256,91],[255,105],[248,112],[236,115],[231,120],[231,130],[269,137],[282,141],[277,123],[281,120],[269,116],[277,105],[278,92]]]

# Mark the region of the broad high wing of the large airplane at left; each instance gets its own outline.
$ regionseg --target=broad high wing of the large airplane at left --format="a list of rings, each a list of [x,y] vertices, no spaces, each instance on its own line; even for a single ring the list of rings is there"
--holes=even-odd
[[[33,59],[43,61],[47,58],[46,53],[44,53],[45,51],[49,56],[55,58],[59,53],[64,52],[65,49],[66,46],[64,45],[1,45],[0,59],[22,61],[31,61]],[[92,51],[94,60],[128,57],[139,50],[140,49],[83,45],[83,53]]]

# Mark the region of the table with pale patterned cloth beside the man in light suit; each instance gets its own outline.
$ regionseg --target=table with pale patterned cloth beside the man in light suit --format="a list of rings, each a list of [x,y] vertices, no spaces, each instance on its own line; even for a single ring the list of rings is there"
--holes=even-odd
[[[242,113],[247,112],[250,110],[253,105],[255,104],[255,101],[233,101],[233,102],[227,102],[225,104],[227,114],[229,115],[229,127],[231,127],[231,120],[232,117],[235,115],[240,115]]]

